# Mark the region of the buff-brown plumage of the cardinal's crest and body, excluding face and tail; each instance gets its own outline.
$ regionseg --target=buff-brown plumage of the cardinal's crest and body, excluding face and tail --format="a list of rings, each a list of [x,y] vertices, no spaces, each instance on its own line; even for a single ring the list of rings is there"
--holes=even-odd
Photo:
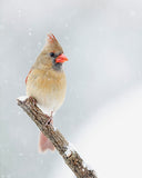
[[[51,110],[57,111],[65,97],[67,80],[63,70],[53,69],[53,62],[50,52],[62,53],[63,50],[53,34],[49,34],[48,43],[37,58],[27,79],[27,95],[34,97],[38,103]],[[52,41],[51,41],[52,40]]]

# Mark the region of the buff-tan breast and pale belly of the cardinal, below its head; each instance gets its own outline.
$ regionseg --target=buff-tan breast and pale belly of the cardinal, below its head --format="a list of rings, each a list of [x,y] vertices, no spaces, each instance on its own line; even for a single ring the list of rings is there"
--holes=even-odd
[[[27,80],[27,95],[34,97],[47,110],[57,111],[67,90],[64,72],[32,70]]]

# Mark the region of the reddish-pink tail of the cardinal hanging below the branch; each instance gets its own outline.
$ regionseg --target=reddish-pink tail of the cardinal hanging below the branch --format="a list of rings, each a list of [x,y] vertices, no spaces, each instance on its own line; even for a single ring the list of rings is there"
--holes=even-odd
[[[40,132],[39,151],[44,152],[48,149],[54,150],[54,146],[49,138],[47,138],[42,132]]]

